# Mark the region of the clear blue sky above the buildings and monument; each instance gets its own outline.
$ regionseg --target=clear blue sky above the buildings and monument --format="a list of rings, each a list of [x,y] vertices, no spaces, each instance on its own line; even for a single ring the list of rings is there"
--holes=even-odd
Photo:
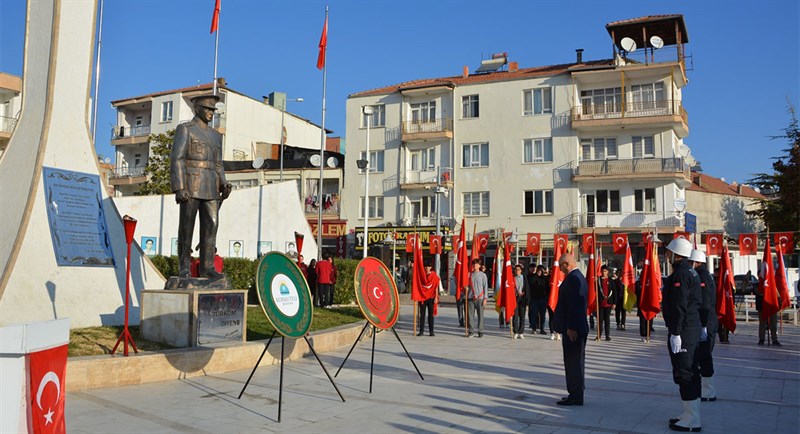
[[[605,24],[684,14],[693,70],[684,88],[686,143],[706,173],[742,182],[771,170],[786,141],[787,99],[800,103],[800,7],[760,1],[330,1],[328,114],[345,128],[347,95],[418,78],[459,75],[491,53],[520,67],[611,56]],[[321,121],[317,43],[326,2],[222,0],[219,75],[255,98],[283,91],[289,110]],[[108,144],[110,101],[209,82],[214,0],[106,0],[98,153]],[[25,2],[0,0],[0,71],[22,73]],[[354,139],[350,139],[351,141]]]

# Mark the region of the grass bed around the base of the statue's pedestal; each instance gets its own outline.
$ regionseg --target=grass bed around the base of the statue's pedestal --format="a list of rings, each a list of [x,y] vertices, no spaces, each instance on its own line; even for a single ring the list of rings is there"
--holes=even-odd
[[[351,324],[364,319],[357,306],[342,306],[333,309],[314,309],[311,331],[324,330],[342,324]],[[148,341],[139,335],[139,326],[130,326],[129,330],[136,348],[142,351],[158,351],[173,348],[169,345]],[[247,307],[247,340],[257,341],[269,339],[274,329],[259,306]],[[111,354],[117,343],[122,326],[86,327],[69,331],[68,357],[98,356]],[[119,344],[116,354],[122,354],[123,343]],[[133,348],[128,349],[133,353]]]

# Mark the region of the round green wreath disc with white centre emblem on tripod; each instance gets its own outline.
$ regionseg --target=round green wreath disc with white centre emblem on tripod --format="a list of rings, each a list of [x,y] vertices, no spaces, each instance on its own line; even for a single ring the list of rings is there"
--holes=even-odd
[[[256,273],[258,302],[275,330],[283,336],[301,338],[311,328],[311,291],[303,272],[280,252],[264,255]]]

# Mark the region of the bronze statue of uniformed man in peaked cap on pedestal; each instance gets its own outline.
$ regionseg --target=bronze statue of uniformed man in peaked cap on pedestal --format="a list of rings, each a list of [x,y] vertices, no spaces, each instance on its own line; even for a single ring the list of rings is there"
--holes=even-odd
[[[222,277],[214,269],[219,207],[231,192],[222,167],[222,134],[208,126],[214,117],[217,95],[192,98],[194,118],[178,125],[172,144],[170,180],[175,202],[180,205],[178,220],[178,277],[188,278],[192,254],[192,234],[200,211],[200,264],[198,275]]]

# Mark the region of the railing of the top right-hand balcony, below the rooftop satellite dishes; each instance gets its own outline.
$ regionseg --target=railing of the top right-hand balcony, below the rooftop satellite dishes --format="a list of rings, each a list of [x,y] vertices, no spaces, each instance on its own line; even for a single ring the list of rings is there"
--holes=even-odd
[[[686,110],[683,109],[683,104],[681,104],[680,100],[626,101],[624,110],[621,101],[604,104],[580,104],[572,108],[573,121],[673,115],[679,115],[684,122],[687,121]]]

